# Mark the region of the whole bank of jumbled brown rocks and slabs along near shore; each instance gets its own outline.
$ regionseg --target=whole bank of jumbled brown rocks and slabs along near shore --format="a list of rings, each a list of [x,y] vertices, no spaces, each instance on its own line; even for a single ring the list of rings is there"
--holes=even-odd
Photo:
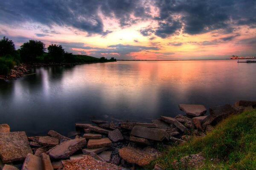
[[[25,132],[10,132],[9,125],[2,124],[0,170],[139,169],[161,156],[160,147],[206,136],[227,116],[255,109],[256,102],[212,107],[207,116],[203,105],[180,104],[179,108],[186,115],[160,116],[151,123],[126,121],[115,125],[108,120],[76,123],[76,131],[68,137],[54,130],[49,130],[48,136],[28,137]],[[204,159],[200,153],[191,158]],[[154,170],[161,169],[156,164]]]

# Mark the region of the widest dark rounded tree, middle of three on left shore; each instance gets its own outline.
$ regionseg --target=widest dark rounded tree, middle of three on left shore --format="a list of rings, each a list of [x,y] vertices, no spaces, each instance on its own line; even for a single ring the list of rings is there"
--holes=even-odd
[[[36,57],[44,54],[45,50],[44,42],[29,40],[20,46],[20,57],[23,62],[35,62]]]

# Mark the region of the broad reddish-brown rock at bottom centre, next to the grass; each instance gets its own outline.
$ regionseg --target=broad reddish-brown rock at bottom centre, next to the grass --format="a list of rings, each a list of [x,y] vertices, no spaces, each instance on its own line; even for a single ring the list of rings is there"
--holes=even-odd
[[[144,149],[135,147],[124,147],[119,150],[119,155],[125,161],[139,166],[145,166],[150,161],[160,156],[160,152],[152,147],[145,147]]]

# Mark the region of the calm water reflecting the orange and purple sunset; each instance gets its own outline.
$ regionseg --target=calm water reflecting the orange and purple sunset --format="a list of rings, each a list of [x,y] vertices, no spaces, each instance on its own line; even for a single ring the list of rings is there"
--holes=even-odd
[[[256,64],[236,60],[119,61],[32,69],[0,82],[0,124],[27,135],[64,135],[76,122],[150,122],[178,104],[211,106],[256,100]]]

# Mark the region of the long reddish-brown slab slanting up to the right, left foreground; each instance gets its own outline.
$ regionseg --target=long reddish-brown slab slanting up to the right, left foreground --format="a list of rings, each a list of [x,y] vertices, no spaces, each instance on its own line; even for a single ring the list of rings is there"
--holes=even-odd
[[[67,159],[78,150],[81,150],[82,147],[86,145],[86,140],[84,138],[71,139],[65,142],[62,142],[59,145],[56,145],[50,149],[47,153],[53,159]]]

